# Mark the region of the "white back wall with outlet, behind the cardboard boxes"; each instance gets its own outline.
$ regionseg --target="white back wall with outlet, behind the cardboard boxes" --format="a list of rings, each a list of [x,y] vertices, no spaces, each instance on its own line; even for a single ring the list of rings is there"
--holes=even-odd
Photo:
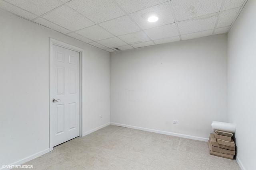
[[[114,52],[110,70],[114,124],[207,140],[227,121],[226,34]]]

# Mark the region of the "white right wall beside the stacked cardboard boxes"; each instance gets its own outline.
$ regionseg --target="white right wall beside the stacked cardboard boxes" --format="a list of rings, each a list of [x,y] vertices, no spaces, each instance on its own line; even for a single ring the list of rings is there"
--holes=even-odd
[[[256,1],[248,0],[228,33],[228,119],[236,125],[238,163],[256,169]]]

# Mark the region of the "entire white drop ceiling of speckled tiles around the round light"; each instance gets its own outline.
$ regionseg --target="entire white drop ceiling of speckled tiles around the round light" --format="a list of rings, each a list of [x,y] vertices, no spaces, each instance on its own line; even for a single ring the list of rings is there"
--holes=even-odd
[[[113,52],[227,33],[246,1],[0,0],[0,8]],[[159,20],[148,22],[152,15]]]

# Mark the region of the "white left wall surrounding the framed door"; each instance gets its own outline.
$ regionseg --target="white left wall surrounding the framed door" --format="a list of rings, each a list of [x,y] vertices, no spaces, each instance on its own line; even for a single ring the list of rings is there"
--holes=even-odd
[[[0,168],[49,148],[49,37],[84,49],[83,131],[110,122],[108,52],[3,10],[0,16]]]

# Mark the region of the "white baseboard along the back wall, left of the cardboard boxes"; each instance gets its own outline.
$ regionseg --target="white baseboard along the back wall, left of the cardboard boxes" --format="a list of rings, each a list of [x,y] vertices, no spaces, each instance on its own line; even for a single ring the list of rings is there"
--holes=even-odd
[[[131,126],[131,125],[124,125],[124,124],[114,123],[114,122],[110,122],[110,125],[128,127],[128,128],[131,128],[131,129],[138,129],[138,130],[142,130],[142,131],[160,133],[160,134],[164,134],[164,135],[183,137],[183,138],[194,139],[194,140],[198,140],[198,141],[205,141],[205,142],[208,141],[208,138],[195,137],[195,136],[184,135],[184,134],[180,134],[180,133],[172,133],[172,132],[167,132],[167,131],[159,131],[159,130],[155,130],[155,129],[148,129],[148,128],[144,128],[144,127],[137,127],[137,126]]]

